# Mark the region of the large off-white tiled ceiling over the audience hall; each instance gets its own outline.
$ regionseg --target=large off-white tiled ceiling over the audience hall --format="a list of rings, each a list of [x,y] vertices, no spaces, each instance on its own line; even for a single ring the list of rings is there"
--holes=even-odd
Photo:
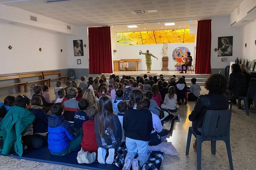
[[[1,2],[8,0],[0,0]],[[13,1],[13,0],[9,0]],[[228,16],[242,0],[77,0],[45,4],[44,0],[3,3],[75,26],[121,25]],[[132,14],[157,9],[157,13]]]

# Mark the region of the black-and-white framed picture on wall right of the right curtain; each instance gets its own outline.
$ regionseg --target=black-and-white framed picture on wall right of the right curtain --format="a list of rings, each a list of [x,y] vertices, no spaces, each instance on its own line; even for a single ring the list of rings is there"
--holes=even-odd
[[[218,37],[218,57],[233,56],[233,36]]]

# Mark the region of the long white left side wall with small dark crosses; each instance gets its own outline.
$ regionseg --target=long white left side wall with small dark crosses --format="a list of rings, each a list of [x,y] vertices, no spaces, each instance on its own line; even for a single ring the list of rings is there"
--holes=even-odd
[[[67,35],[8,23],[0,23],[0,30],[0,74],[69,68]]]

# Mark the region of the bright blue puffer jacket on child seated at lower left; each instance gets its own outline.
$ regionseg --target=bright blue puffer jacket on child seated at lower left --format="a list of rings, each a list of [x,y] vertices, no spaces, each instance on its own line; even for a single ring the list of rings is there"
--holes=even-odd
[[[59,153],[66,150],[70,141],[76,139],[76,134],[70,123],[64,120],[64,116],[51,114],[48,119],[48,148],[51,153]]]

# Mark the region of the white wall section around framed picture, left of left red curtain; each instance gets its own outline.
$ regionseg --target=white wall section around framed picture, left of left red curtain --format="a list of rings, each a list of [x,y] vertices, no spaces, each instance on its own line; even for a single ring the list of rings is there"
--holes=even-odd
[[[68,37],[68,59],[69,59],[69,68],[89,68],[89,59],[88,59],[88,36],[87,36],[87,27],[77,27],[77,35]],[[86,44],[84,49],[84,56],[74,56],[74,47],[73,40],[83,40],[83,45]],[[81,64],[77,64],[76,60],[81,59]]]

